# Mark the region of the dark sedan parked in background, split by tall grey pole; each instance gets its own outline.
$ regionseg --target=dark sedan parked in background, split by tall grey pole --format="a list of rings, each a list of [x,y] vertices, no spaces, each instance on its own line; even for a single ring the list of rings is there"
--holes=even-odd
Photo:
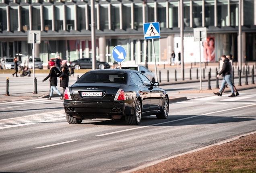
[[[70,62],[70,65],[74,67],[74,69],[78,70],[80,68],[92,68],[92,59],[91,58],[81,58]],[[110,65],[107,62],[97,61],[97,68],[104,69],[110,68]]]

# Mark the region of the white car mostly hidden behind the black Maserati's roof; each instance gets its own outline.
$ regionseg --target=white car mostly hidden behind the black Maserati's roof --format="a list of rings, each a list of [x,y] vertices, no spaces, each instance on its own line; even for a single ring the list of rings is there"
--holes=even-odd
[[[120,66],[117,66],[116,68],[120,68]],[[155,74],[145,66],[142,65],[122,65],[122,68],[124,69],[130,69],[130,70],[137,70],[141,73],[143,73],[149,80],[151,80],[152,83],[155,82]]]

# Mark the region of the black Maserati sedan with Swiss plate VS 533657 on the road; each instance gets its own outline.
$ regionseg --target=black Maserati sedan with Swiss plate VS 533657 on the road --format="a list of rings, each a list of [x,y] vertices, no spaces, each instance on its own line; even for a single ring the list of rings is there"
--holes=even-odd
[[[141,72],[102,69],[86,72],[64,92],[64,110],[70,124],[83,119],[121,119],[138,125],[141,117],[167,119],[169,97]]]

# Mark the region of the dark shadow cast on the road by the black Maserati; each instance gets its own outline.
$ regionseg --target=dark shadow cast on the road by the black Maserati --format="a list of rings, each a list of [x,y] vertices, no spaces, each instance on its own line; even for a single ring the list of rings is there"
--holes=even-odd
[[[196,117],[195,117],[196,116]],[[256,116],[248,115],[247,117],[253,118],[241,118],[239,117],[222,117],[222,116],[209,116],[209,115],[177,115],[169,116],[165,120],[157,119],[155,116],[142,117],[141,123],[138,126],[185,126],[185,125],[210,125],[220,123],[236,123],[244,121],[254,121]],[[106,120],[100,122],[86,122],[83,120],[82,124],[93,125],[105,125],[105,126],[124,126],[127,125],[125,119],[120,120]],[[134,127],[138,127],[134,126]]]

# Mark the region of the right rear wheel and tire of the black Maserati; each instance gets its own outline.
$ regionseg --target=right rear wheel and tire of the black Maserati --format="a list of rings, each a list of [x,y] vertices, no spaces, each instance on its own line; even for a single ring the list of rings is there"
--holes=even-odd
[[[125,121],[128,125],[139,125],[142,115],[142,106],[139,100],[136,101],[134,114],[132,117],[126,116]]]

